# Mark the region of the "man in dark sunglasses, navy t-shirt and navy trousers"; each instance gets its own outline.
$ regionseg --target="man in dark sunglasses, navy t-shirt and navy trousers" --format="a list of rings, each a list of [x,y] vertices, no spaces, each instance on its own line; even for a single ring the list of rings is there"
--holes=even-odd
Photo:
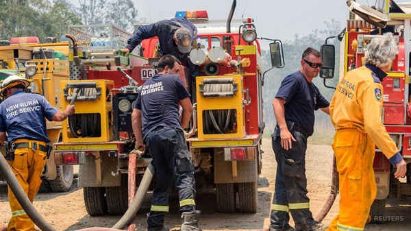
[[[329,114],[329,102],[312,83],[321,66],[320,52],[308,47],[303,52],[301,69],[284,77],[273,100],[277,175],[269,231],[316,231],[322,227],[310,212],[305,159],[307,138],[314,130],[314,110]],[[289,213],[295,228],[288,224]]]

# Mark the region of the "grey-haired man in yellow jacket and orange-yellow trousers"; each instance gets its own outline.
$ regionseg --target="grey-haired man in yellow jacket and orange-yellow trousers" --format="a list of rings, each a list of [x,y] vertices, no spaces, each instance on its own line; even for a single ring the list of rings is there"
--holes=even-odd
[[[381,82],[397,54],[393,36],[373,38],[366,47],[365,66],[349,71],[329,106],[336,128],[332,145],[340,177],[340,210],[327,231],[363,230],[375,199],[375,145],[392,165],[395,178],[406,174],[406,162],[382,119]]]

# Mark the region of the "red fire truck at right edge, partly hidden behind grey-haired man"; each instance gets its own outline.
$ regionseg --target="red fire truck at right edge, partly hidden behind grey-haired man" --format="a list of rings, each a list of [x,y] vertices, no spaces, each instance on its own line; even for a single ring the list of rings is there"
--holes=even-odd
[[[381,2],[381,1],[379,1]],[[393,166],[376,147],[373,168],[377,183],[377,196],[371,207],[371,218],[384,215],[386,198],[411,195],[411,117],[407,113],[410,102],[411,58],[411,7],[410,3],[384,1],[380,11],[347,1],[350,18],[347,27],[338,36],[340,40],[340,70],[342,78],[347,71],[364,65],[367,43],[386,32],[393,33],[398,54],[393,66],[384,78],[384,105],[382,122],[407,164],[406,178],[395,179]],[[380,6],[381,6],[380,5]],[[358,17],[359,16],[359,17]],[[326,42],[327,43],[327,42]],[[334,76],[334,45],[323,45],[323,69],[320,76],[325,80]]]

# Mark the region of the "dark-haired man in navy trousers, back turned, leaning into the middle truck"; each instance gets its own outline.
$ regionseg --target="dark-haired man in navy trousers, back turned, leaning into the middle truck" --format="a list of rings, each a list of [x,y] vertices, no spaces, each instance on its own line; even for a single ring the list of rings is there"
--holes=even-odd
[[[164,227],[164,213],[169,212],[172,182],[178,189],[179,206],[184,219],[181,230],[199,231],[195,210],[194,166],[183,131],[188,127],[192,105],[190,94],[178,75],[181,69],[174,56],[160,58],[159,73],[141,86],[132,113],[136,149],[147,148],[153,156],[151,163],[155,169],[156,185],[147,218],[148,231],[168,230]],[[183,108],[182,121],[179,121],[178,104]]]

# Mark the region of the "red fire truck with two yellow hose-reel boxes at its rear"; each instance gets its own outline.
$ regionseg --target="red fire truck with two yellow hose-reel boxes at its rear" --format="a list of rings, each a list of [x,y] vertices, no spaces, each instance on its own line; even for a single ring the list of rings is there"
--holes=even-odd
[[[232,29],[235,5],[223,29],[207,26],[205,10],[176,13],[201,23],[190,53],[200,74],[194,80],[185,67],[180,77],[192,95],[187,143],[197,190],[215,191],[219,211],[256,212],[264,131],[262,51],[252,19]],[[125,47],[130,34],[110,28],[105,37],[97,26],[71,29],[78,49],[75,59],[87,71],[83,80],[62,82],[63,104],[75,99],[76,112],[63,125],[62,142],[55,145],[56,158],[79,165],[78,183],[92,216],[127,209],[129,153],[135,141],[130,115],[138,86],[156,73],[158,61],[157,38],[143,40],[127,59],[113,50]],[[271,69],[284,66],[282,42],[272,39],[270,51]],[[137,160],[137,181],[149,161],[149,154]]]

